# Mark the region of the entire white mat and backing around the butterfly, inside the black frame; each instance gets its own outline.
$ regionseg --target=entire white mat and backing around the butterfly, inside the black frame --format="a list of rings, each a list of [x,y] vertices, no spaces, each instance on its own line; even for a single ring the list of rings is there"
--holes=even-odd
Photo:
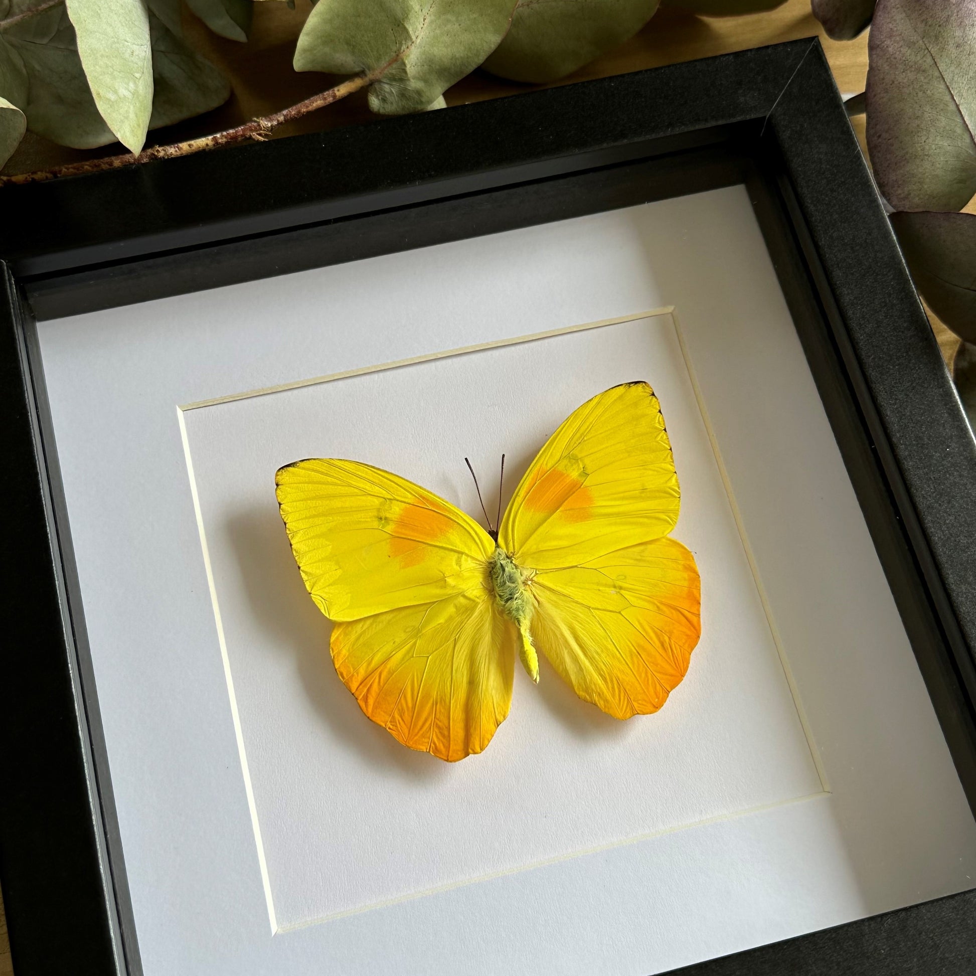
[[[653,351],[642,371],[662,396],[684,490],[675,535],[699,554],[711,615],[685,683],[663,712],[621,732],[581,717],[586,707],[551,671],[538,689],[519,677],[496,740],[457,767],[469,792],[545,803],[538,784],[523,782],[538,775],[531,757],[561,755],[549,787],[566,791],[576,750],[576,793],[599,824],[573,811],[549,836],[521,811],[508,834],[472,835],[464,850],[457,826],[443,837],[428,831],[421,852],[401,844],[399,823],[384,833],[374,821],[366,840],[343,837],[356,783],[388,784],[415,812],[435,796],[457,818],[474,801],[467,787],[445,787],[454,767],[406,752],[341,686],[335,692],[331,665],[307,650],[313,636],[324,642],[325,627],[296,586],[283,534],[257,508],[270,492],[269,482],[258,486],[265,464],[325,452],[327,438],[344,435],[323,424],[321,446],[307,444],[309,412],[322,408],[315,397],[340,386],[180,407],[664,306],[675,309],[685,357],[665,316],[618,335],[630,329],[651,343],[658,330],[657,346],[630,351]],[[618,328],[604,330],[608,356]],[[742,187],[46,322],[39,339],[147,976],[636,976],[972,885],[976,826]],[[536,347],[563,342],[572,345]],[[523,353],[491,354],[500,382],[514,383],[519,369],[524,381]],[[459,452],[491,470],[514,444],[524,465],[590,379],[592,391],[615,382],[619,362],[590,375],[602,343],[584,354],[586,370],[573,370],[578,360],[552,353],[540,398],[502,414],[498,443],[481,431],[463,445],[474,432],[443,407],[422,429],[428,438],[408,447],[378,438],[371,450],[386,460],[369,460],[471,510]],[[362,396],[412,371],[419,386],[438,386],[443,371],[460,368],[440,362],[339,383]],[[548,370],[548,355],[538,368]],[[565,386],[552,386],[556,373]],[[409,427],[425,398],[397,395],[395,420]],[[350,418],[346,406],[346,427]],[[274,445],[280,459],[268,436],[279,421],[291,425]],[[256,568],[253,553],[268,565]],[[719,564],[728,571],[720,585]],[[734,610],[732,637],[723,605]],[[788,677],[828,793],[817,793]],[[343,701],[346,713],[325,713]],[[536,730],[545,742],[531,741]],[[758,752],[743,762],[750,744]],[[283,754],[289,746],[294,754]],[[613,769],[604,764],[632,776],[643,750],[645,768],[672,789],[639,783],[608,802],[600,777]],[[681,764],[696,782],[674,786]],[[803,798],[811,784],[815,795]],[[326,808],[330,785],[338,805]],[[474,813],[480,829],[496,829],[493,812]],[[602,846],[618,840],[630,842]],[[565,856],[581,846],[598,849]],[[456,883],[540,857],[555,860]],[[326,863],[345,865],[338,882],[320,870]],[[386,864],[390,872],[376,870]],[[274,926],[269,891],[281,916]]]

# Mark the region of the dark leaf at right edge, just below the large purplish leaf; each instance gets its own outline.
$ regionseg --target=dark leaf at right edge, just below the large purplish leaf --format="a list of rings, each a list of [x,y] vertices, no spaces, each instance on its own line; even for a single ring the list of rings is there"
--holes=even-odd
[[[932,311],[976,343],[976,216],[931,212],[891,215],[915,287]]]

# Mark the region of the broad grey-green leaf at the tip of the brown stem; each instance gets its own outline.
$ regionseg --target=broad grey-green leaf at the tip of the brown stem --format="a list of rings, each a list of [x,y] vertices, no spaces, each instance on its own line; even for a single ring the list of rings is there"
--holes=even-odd
[[[296,71],[382,71],[375,112],[423,111],[494,51],[515,0],[319,0],[295,51]]]

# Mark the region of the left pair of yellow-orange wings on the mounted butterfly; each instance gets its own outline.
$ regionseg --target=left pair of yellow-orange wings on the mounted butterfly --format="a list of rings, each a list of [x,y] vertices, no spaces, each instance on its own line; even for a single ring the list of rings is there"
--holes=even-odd
[[[380,468],[281,468],[277,498],[305,587],[336,624],[336,671],[413,749],[481,752],[508,715],[511,625],[494,606],[495,544],[463,511]]]

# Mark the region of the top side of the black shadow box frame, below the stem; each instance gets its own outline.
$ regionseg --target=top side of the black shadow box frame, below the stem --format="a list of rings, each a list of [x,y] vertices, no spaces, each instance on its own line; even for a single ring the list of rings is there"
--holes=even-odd
[[[7,186],[0,257],[18,278],[56,274],[339,220],[362,213],[367,197],[368,209],[379,211],[543,180],[633,158],[646,140],[667,141],[673,149],[703,144],[721,125],[768,113],[810,43]],[[725,83],[710,88],[718,71]],[[708,91],[708,98],[671,98],[691,85]],[[489,132],[504,138],[486,139]],[[190,201],[188,185],[206,185],[208,193]],[[58,228],[55,243],[51,227]]]

